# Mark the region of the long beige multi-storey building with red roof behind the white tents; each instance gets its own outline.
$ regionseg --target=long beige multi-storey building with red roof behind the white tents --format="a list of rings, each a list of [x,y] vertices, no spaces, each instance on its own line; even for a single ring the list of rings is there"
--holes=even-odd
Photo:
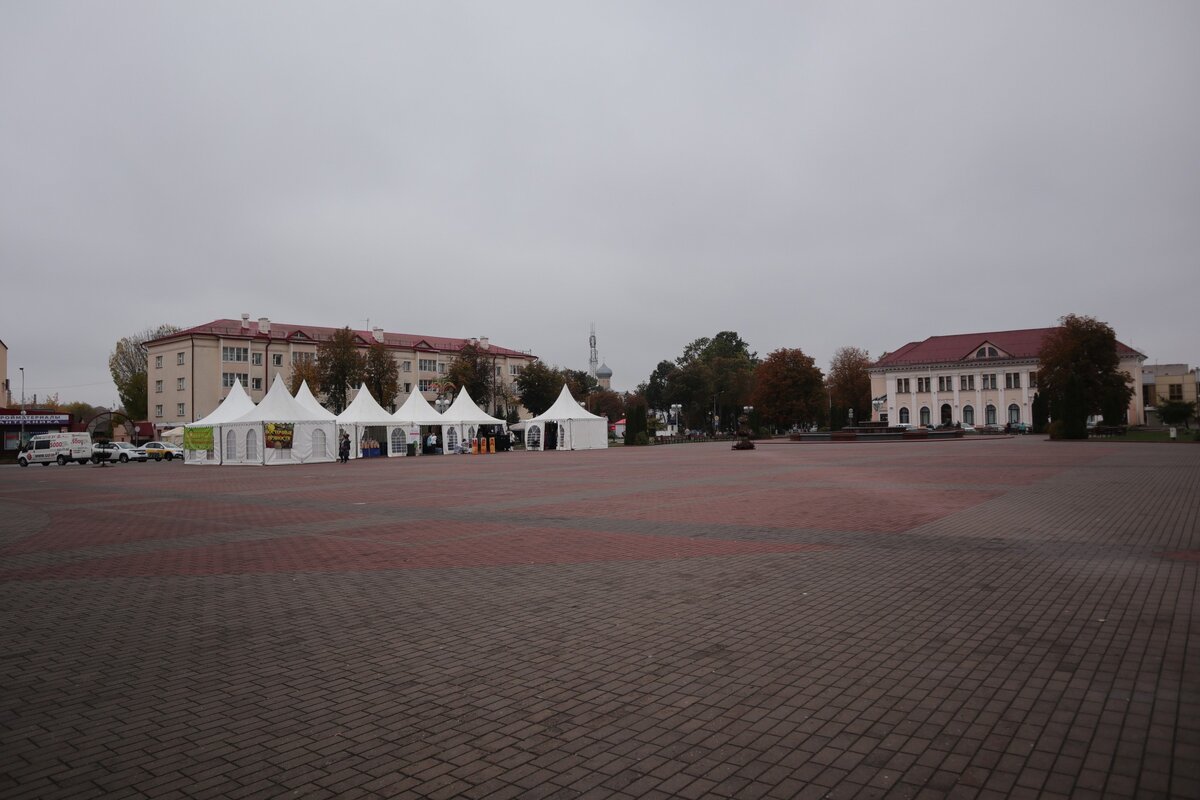
[[[242,315],[241,320],[220,319],[149,342],[149,420],[158,427],[170,427],[202,419],[216,409],[235,379],[257,403],[271,387],[276,374],[289,381],[293,366],[314,360],[317,347],[336,330],[271,323],[266,318],[251,321]],[[510,391],[520,371],[535,359],[528,353],[491,344],[486,338],[389,333],[380,327],[355,331],[355,335],[362,350],[373,342],[382,342],[396,361],[400,393],[394,398],[376,398],[384,408],[398,407],[413,391],[420,391],[432,402],[438,395],[434,386],[445,378],[455,355],[467,343],[475,343],[493,355],[497,385]],[[474,399],[481,408],[491,405],[491,398]],[[502,405],[509,405],[498,399]],[[494,408],[487,410],[494,411]]]

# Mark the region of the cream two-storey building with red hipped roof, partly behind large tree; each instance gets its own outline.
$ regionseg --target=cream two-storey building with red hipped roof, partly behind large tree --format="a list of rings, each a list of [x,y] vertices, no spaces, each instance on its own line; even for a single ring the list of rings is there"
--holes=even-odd
[[[908,342],[870,368],[872,419],[890,425],[1006,425],[1033,421],[1038,353],[1056,329],[931,336]],[[1141,362],[1117,342],[1121,369],[1135,390],[1129,421],[1142,420]]]

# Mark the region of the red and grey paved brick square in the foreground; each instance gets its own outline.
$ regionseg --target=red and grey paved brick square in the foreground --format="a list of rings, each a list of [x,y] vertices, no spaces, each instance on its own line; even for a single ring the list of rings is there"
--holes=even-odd
[[[0,796],[1200,798],[1200,446],[0,469]]]

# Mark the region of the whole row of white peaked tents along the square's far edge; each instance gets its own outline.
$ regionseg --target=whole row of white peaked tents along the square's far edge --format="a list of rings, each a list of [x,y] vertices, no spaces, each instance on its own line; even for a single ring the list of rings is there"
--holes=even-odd
[[[608,446],[608,422],[584,410],[566,386],[554,404],[526,422],[526,446],[542,450],[546,425],[558,426],[559,450],[590,450]],[[482,411],[463,389],[454,403],[438,413],[420,392],[413,392],[404,404],[389,414],[364,385],[341,414],[324,408],[307,383],[301,383],[293,397],[280,375],[257,405],[240,381],[234,381],[228,396],[212,414],[184,426],[184,459],[188,464],[307,464],[337,458],[342,433],[350,438],[352,457],[362,455],[367,429],[383,429],[379,441],[395,456],[407,455],[409,443],[421,450],[421,428],[439,434],[446,455],[457,452],[460,444],[470,441],[484,426],[504,426],[505,421]]]

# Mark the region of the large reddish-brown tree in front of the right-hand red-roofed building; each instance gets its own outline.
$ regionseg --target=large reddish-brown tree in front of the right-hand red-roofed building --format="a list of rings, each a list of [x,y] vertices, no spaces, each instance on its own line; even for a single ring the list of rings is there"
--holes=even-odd
[[[1087,417],[1106,411],[1110,425],[1124,422],[1133,398],[1132,378],[1122,372],[1112,329],[1092,317],[1068,314],[1042,342],[1038,391],[1050,416],[1062,421],[1063,437],[1087,435]]]

